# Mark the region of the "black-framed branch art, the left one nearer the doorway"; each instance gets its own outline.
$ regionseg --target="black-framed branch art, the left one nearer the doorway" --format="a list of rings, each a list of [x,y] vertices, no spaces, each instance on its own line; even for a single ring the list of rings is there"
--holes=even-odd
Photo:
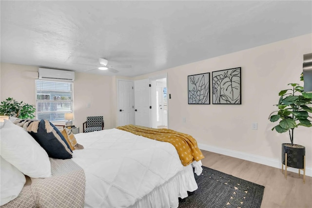
[[[210,72],[189,75],[188,104],[210,104]]]

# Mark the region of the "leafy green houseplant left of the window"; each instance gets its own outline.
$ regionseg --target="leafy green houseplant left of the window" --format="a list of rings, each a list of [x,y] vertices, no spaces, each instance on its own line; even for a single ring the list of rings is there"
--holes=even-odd
[[[21,119],[33,119],[36,108],[34,105],[24,102],[17,102],[13,98],[7,98],[0,104],[0,114],[5,116],[14,116]]]

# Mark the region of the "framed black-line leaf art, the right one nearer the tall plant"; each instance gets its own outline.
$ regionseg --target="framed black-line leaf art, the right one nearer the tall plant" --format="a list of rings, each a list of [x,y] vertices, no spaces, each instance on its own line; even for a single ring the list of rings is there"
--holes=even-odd
[[[241,67],[212,72],[213,104],[241,104]]]

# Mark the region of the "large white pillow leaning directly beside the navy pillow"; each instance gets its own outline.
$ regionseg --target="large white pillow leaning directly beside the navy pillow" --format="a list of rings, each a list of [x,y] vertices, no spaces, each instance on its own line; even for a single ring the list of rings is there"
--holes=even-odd
[[[5,120],[1,133],[1,157],[32,178],[51,176],[46,151],[22,127]]]

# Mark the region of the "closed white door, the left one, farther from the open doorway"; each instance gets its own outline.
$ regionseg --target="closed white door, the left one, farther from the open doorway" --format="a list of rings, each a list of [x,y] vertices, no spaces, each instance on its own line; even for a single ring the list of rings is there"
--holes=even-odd
[[[118,126],[135,124],[134,83],[118,80]]]

